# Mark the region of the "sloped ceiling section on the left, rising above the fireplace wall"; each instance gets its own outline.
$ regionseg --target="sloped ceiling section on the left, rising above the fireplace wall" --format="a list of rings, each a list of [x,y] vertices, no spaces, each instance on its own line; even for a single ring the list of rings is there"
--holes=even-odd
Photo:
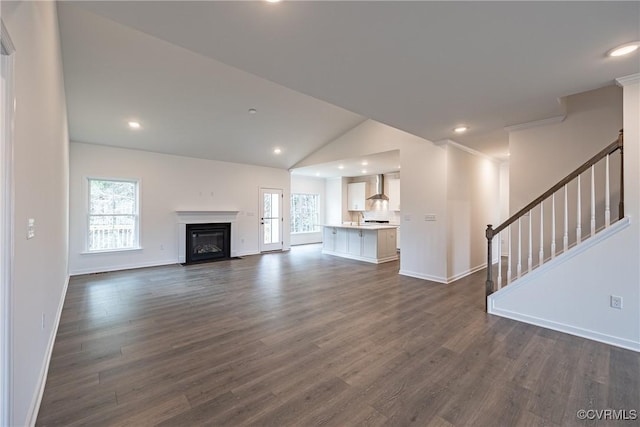
[[[364,120],[69,4],[59,19],[73,141],[288,169]]]

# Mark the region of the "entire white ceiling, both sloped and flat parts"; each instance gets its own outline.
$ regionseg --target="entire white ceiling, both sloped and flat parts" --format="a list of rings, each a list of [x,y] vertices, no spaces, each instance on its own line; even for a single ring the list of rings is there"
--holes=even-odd
[[[73,2],[59,14],[72,140],[281,168],[365,118],[501,156],[505,126],[640,72],[638,53],[605,56],[640,39],[640,2]],[[144,129],[126,129],[131,117]]]

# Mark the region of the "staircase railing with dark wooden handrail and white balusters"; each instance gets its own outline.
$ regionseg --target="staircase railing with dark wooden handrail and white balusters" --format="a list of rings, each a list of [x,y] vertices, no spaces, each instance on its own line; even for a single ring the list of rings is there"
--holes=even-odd
[[[489,295],[556,257],[559,261],[624,218],[623,165],[620,131],[615,141],[505,222],[487,226],[487,304]],[[612,199],[618,203],[612,205]]]

